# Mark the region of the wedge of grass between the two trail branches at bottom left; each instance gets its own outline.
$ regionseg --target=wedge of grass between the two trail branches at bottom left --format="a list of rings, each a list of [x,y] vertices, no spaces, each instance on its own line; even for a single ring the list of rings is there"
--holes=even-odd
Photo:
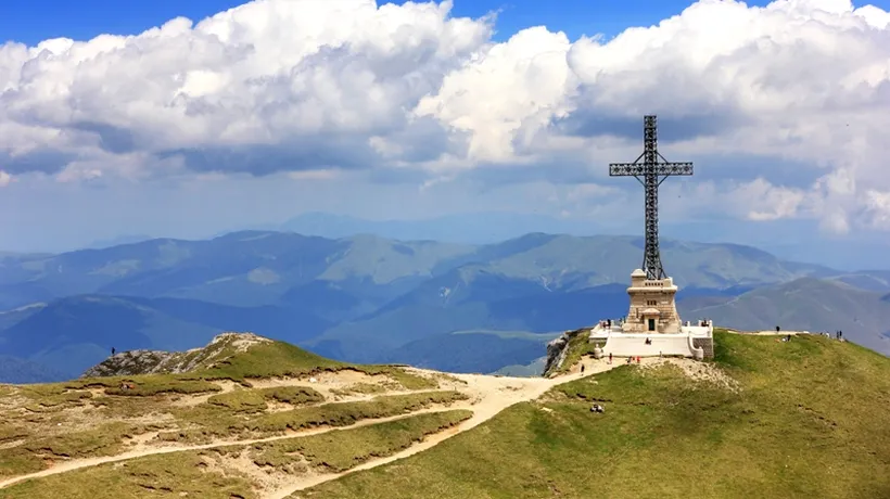
[[[255,446],[185,451],[76,470],[23,482],[2,491],[4,499],[119,499],[201,497],[254,499],[247,475],[226,466],[226,458],[246,456],[264,470],[301,473],[345,471],[371,458],[391,456],[425,435],[465,421],[470,411],[418,414],[397,421]],[[258,470],[258,468],[257,468]]]

